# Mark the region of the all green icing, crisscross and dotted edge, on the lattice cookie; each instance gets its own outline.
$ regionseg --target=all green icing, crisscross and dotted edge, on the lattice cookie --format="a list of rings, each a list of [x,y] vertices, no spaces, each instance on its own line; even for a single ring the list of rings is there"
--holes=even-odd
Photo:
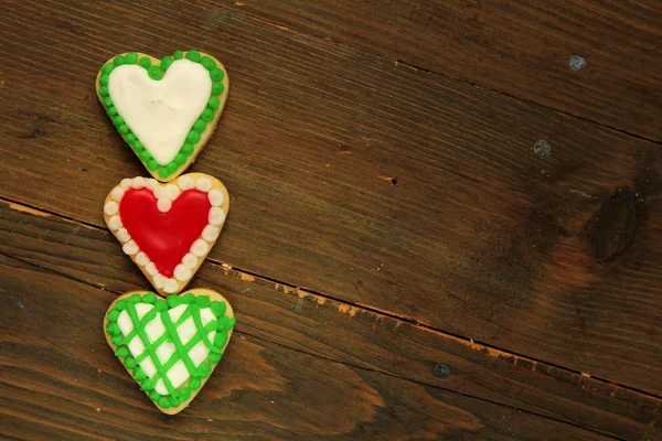
[[[136,309],[136,305],[140,302],[146,304],[154,304],[154,308],[149,310],[141,319],[139,319]],[[181,304],[185,305],[185,310],[177,320],[177,322],[172,322],[168,310],[177,308]],[[203,325],[201,319],[201,309],[207,306],[212,310],[214,315],[218,318],[218,320],[211,321],[206,325]],[[227,333],[217,332],[214,337],[213,344],[209,341],[207,334],[218,329],[218,323],[221,323],[224,319],[225,322],[234,324],[234,320],[231,320],[227,316],[223,315],[226,309],[227,305],[225,304],[225,302],[210,302],[209,297],[196,297],[191,292],[181,295],[170,295],[167,300],[158,299],[153,292],[147,293],[145,295],[135,293],[131,297],[125,298],[115,303],[115,308],[110,310],[106,315],[110,321],[110,323],[106,327],[106,331],[108,332],[108,334],[114,335],[113,342],[117,346],[115,354],[117,355],[117,357],[124,358],[124,364],[127,366],[127,368],[134,369],[134,378],[136,378],[136,380],[140,383],[141,389],[148,392],[150,399],[157,401],[159,406],[163,408],[177,407],[191,397],[192,390],[197,390],[201,387],[201,378],[206,378],[211,375],[211,364],[217,364],[221,361],[221,348],[227,342]],[[132,331],[126,336],[121,335],[121,331],[119,330],[119,326],[116,323],[117,319],[119,318],[120,311],[125,310],[127,311],[132,322]],[[221,315],[217,315],[216,313],[220,313]],[[145,329],[148,323],[150,323],[157,318],[157,314],[159,314],[163,326],[166,327],[166,333],[159,338],[157,338],[154,342],[151,342],[147,336]],[[186,342],[186,344],[184,344],[181,341],[177,329],[179,325],[181,325],[189,319],[193,320],[196,332]],[[142,344],[145,345],[145,352],[142,352],[137,357],[132,357],[129,348],[127,347],[127,345],[134,338],[140,338]],[[159,357],[157,356],[156,351],[161,344],[166,342],[174,345],[175,352],[166,363],[161,363]],[[190,358],[189,352],[191,351],[191,348],[193,348],[193,346],[195,346],[200,342],[203,342],[203,344],[210,349],[210,353],[207,355],[207,362],[203,362],[200,364],[200,366],[196,367],[193,361]],[[139,364],[147,357],[150,357],[157,369],[157,373],[152,378],[149,378],[145,370],[139,366]],[[188,381],[188,385],[184,384],[178,389],[172,385],[172,383],[167,376],[167,373],[180,361],[184,364],[191,377]],[[161,396],[154,390],[154,386],[159,380],[163,381],[163,386],[168,390],[169,396]]]

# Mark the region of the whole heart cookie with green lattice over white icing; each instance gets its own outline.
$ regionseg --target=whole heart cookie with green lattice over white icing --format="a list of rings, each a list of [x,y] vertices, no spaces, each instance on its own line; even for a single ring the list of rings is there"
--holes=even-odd
[[[147,291],[120,295],[104,319],[106,340],[164,413],[184,409],[221,362],[235,316],[217,292],[193,289],[167,300]]]

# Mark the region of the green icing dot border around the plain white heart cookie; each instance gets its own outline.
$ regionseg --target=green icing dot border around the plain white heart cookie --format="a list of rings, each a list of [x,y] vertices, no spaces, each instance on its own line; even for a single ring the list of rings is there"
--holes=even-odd
[[[197,117],[189,133],[186,140],[180,148],[180,151],[174,155],[174,159],[168,164],[158,163],[152,155],[145,149],[142,142],[136,137],[136,135],[125,123],[124,118],[118,115],[117,109],[113,105],[113,99],[108,93],[108,80],[110,73],[117,66],[125,64],[136,64],[147,71],[147,74],[152,79],[161,79],[177,60],[186,58],[194,63],[200,63],[210,73],[212,79],[212,93],[207,101],[206,108]],[[167,180],[168,176],[172,175],[180,168],[182,168],[189,157],[195,151],[195,144],[200,142],[201,133],[206,129],[207,122],[211,122],[216,117],[216,112],[220,109],[221,100],[217,98],[225,92],[225,85],[223,84],[225,78],[225,71],[216,66],[216,62],[206,55],[201,55],[199,51],[191,50],[188,52],[175,51],[172,56],[167,55],[161,58],[159,65],[153,64],[150,57],[140,57],[137,52],[129,52],[126,54],[117,55],[110,62],[106,63],[100,71],[99,75],[99,89],[97,90],[98,96],[102,98],[102,103],[106,109],[106,114],[111,118],[113,123],[117,128],[119,135],[122,136],[125,142],[131,147],[131,149],[138,154],[142,164],[149,170],[159,175],[159,178]]]

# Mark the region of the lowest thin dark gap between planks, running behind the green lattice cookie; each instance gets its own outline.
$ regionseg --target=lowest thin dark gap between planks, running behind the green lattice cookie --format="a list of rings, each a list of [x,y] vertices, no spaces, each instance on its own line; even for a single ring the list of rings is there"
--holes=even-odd
[[[2,197],[0,196],[0,200],[1,198]],[[29,208],[29,209],[33,209],[33,208]],[[32,212],[26,212],[26,213],[32,213]],[[98,289],[98,290],[102,290],[102,291],[106,291],[106,292],[113,292],[113,293],[115,293],[117,295],[124,294],[124,292],[120,292],[120,291],[117,291],[117,290],[114,290],[114,289],[108,289],[106,287],[100,287],[100,286],[97,286],[95,283],[88,282],[88,281],[85,281],[85,280],[73,278],[71,276],[64,275],[62,272],[54,271],[54,270],[52,270],[50,268],[42,267],[41,265],[38,265],[38,263],[31,262],[29,260],[24,260],[24,259],[18,258],[15,256],[10,256],[10,255],[7,255],[4,252],[0,252],[0,255],[7,257],[8,259],[19,261],[21,263],[31,266],[33,268],[38,268],[41,271],[50,272],[50,273],[55,275],[57,277],[62,277],[64,279],[72,280],[72,281],[75,281],[77,283],[86,284],[86,286],[88,286],[90,288],[95,288],[95,289]],[[215,263],[215,265],[217,265],[217,263]],[[226,268],[226,267],[223,267],[223,268]],[[235,272],[237,272],[238,276],[239,276],[239,278],[242,278],[243,280],[249,281],[250,278],[254,278],[254,276],[249,276],[248,279],[246,279],[245,277],[242,277],[242,273],[239,273],[239,271],[237,271],[235,269],[232,269],[232,270],[227,269],[227,270],[228,271],[235,271]],[[266,279],[266,280],[268,280],[268,279]],[[591,433],[599,434],[601,437],[611,438],[611,439],[617,440],[617,441],[627,441],[624,438],[616,437],[616,435],[610,434],[610,433],[605,433],[605,432],[601,432],[599,430],[587,428],[587,427],[577,424],[577,423],[572,422],[572,421],[566,421],[566,420],[553,418],[553,417],[549,417],[549,416],[545,416],[545,415],[532,412],[530,410],[520,409],[520,408],[517,408],[515,406],[509,406],[509,405],[505,405],[503,402],[493,401],[493,400],[490,400],[490,399],[487,399],[487,398],[477,397],[477,396],[473,396],[473,395],[470,395],[470,394],[465,394],[465,392],[461,392],[459,390],[453,390],[453,389],[441,387],[439,385],[431,385],[431,384],[428,384],[428,383],[425,383],[425,381],[418,381],[418,380],[415,380],[415,379],[402,377],[399,375],[386,373],[386,372],[383,372],[383,370],[371,369],[370,367],[360,366],[360,365],[355,365],[353,363],[348,363],[348,362],[342,362],[342,361],[339,361],[339,359],[335,359],[335,358],[325,357],[323,355],[319,355],[319,354],[306,352],[306,351],[302,351],[302,349],[298,349],[298,348],[295,348],[295,347],[290,347],[290,346],[285,345],[282,343],[278,343],[278,342],[275,342],[275,341],[271,341],[271,340],[268,340],[268,338],[264,338],[264,337],[250,334],[250,333],[245,332],[245,331],[238,331],[238,330],[235,329],[234,333],[237,334],[237,335],[245,335],[245,336],[255,338],[256,341],[265,342],[265,343],[268,343],[268,344],[274,344],[274,345],[284,347],[284,348],[286,348],[288,351],[295,351],[297,353],[305,354],[307,356],[312,356],[312,357],[316,357],[316,358],[319,358],[319,359],[324,359],[324,361],[328,361],[330,363],[337,363],[337,364],[340,364],[340,365],[343,365],[343,366],[349,366],[349,367],[353,367],[353,368],[365,370],[365,372],[372,372],[372,373],[375,373],[375,374],[378,374],[378,375],[385,375],[387,377],[396,378],[396,379],[404,380],[404,381],[414,383],[414,384],[417,384],[417,385],[420,385],[420,386],[425,386],[425,387],[433,387],[433,388],[436,388],[436,389],[439,389],[439,390],[444,390],[444,391],[447,391],[447,392],[450,392],[450,394],[456,394],[456,395],[459,395],[459,396],[462,396],[462,397],[467,397],[467,398],[470,398],[470,399],[474,399],[474,400],[478,400],[478,401],[481,401],[481,402],[490,404],[490,405],[493,405],[493,406],[499,406],[499,407],[506,408],[506,409],[512,409],[512,410],[517,411],[517,412],[527,413],[527,415],[531,415],[533,417],[543,418],[545,420],[555,421],[555,422],[558,422],[558,423],[562,423],[562,424],[568,424],[568,426],[572,426],[572,427],[576,427],[578,429],[586,430],[586,431],[589,431]]]

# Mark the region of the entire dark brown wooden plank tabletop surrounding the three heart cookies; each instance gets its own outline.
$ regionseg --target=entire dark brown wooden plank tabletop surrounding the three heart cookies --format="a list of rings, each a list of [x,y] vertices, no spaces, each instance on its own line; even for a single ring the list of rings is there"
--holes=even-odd
[[[659,0],[2,1],[2,438],[662,440],[661,23]],[[102,213],[146,170],[94,79],[191,47],[232,78],[190,169],[232,209],[191,286],[237,325],[168,417],[102,329],[149,288]]]

